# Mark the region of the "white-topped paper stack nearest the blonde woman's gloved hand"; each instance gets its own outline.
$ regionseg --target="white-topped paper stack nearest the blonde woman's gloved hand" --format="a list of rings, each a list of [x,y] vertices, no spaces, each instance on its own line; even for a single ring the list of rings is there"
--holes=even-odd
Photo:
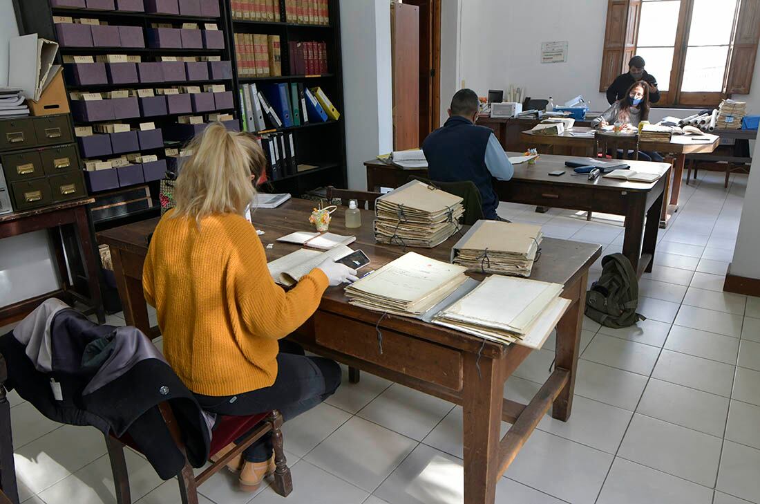
[[[467,281],[467,268],[407,252],[346,287],[349,303],[394,315],[423,315]]]

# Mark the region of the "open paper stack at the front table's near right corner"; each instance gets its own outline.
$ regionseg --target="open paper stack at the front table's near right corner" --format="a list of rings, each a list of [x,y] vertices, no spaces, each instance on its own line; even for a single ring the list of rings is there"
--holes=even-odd
[[[570,306],[561,292],[559,284],[492,275],[432,322],[489,341],[540,348]]]

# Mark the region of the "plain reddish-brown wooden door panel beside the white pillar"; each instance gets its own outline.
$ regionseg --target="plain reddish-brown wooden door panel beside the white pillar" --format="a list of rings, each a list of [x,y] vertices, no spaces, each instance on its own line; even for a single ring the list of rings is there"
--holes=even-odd
[[[391,5],[393,148],[420,147],[420,8]]]

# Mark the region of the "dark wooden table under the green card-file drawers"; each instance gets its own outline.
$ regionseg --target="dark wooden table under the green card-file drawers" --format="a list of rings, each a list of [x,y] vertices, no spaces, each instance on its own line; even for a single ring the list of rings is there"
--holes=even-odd
[[[95,200],[92,198],[83,198],[0,215],[0,239],[47,230],[55,250],[56,265],[62,284],[59,290],[3,307],[0,309],[0,321],[26,315],[40,306],[44,300],[58,297],[70,305],[74,304],[74,301],[89,305],[89,311],[97,313],[98,321],[101,324],[106,322],[98,281],[100,258],[95,252],[93,227],[87,210],[87,204],[93,201]],[[76,258],[81,258],[81,264]],[[71,271],[71,281],[67,271]],[[84,282],[79,282],[80,277]],[[75,290],[78,283],[86,284],[89,296]]]

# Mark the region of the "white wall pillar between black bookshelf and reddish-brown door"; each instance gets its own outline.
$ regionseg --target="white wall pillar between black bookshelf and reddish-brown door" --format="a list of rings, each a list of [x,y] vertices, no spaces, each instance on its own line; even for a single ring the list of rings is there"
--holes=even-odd
[[[391,7],[340,0],[348,186],[366,189],[364,161],[393,148]]]

